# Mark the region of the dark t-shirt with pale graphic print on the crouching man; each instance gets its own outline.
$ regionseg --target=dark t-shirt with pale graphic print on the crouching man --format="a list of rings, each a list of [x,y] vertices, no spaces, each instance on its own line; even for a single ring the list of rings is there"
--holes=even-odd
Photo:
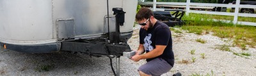
[[[166,46],[163,54],[156,58],[163,58],[170,65],[174,65],[174,55],[172,51],[172,34],[170,28],[165,23],[157,21],[153,28],[145,30],[140,28],[140,44],[143,44],[145,51],[148,53],[156,48],[156,45]],[[149,58],[147,61],[154,60]]]

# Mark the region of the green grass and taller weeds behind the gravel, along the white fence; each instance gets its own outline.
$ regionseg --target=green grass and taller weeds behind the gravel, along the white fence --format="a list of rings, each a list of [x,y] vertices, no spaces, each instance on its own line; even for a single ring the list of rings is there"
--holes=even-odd
[[[186,23],[181,28],[188,30],[188,33],[194,33],[198,35],[207,34],[207,32],[213,32],[220,38],[234,39],[234,45],[244,48],[244,45],[248,47],[256,47],[256,27],[246,25],[234,25],[233,23],[224,23],[221,21],[214,22],[209,20],[207,16],[184,16],[182,18]]]

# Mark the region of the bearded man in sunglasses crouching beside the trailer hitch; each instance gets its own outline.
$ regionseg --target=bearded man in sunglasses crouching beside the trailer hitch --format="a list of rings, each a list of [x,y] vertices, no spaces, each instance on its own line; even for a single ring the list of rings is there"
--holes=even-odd
[[[174,64],[170,28],[165,23],[157,21],[148,8],[141,8],[138,11],[136,22],[141,25],[140,46],[131,60],[147,59],[147,63],[138,69],[140,75],[155,76],[170,71]]]

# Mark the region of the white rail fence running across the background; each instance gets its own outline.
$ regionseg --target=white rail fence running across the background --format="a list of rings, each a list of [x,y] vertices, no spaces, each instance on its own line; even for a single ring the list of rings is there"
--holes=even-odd
[[[153,11],[164,11],[163,8],[156,8],[156,5],[181,5],[186,6],[186,15],[189,15],[189,13],[202,13],[202,14],[210,14],[210,15],[228,15],[228,16],[234,16],[233,23],[238,23],[241,25],[252,25],[256,26],[256,23],[253,22],[237,22],[238,16],[248,16],[248,17],[255,17],[256,14],[250,14],[250,13],[239,13],[239,8],[256,8],[256,5],[244,5],[240,4],[240,0],[236,1],[236,4],[213,4],[213,3],[190,3],[190,0],[187,0],[186,3],[175,3],[175,2],[156,2],[154,0],[153,2],[138,2],[138,4],[153,4]],[[228,12],[218,12],[218,11],[196,11],[196,10],[190,10],[189,8],[191,6],[212,6],[212,7],[229,7],[229,8],[235,8],[234,13],[228,13]],[[225,20],[223,20],[225,21]]]

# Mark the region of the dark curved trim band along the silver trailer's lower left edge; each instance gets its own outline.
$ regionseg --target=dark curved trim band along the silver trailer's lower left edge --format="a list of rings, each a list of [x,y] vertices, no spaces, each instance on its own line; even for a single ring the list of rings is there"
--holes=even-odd
[[[7,44],[0,42],[1,46],[5,44],[6,49],[18,51],[21,53],[52,53],[60,51],[61,43],[53,42],[48,44]]]

